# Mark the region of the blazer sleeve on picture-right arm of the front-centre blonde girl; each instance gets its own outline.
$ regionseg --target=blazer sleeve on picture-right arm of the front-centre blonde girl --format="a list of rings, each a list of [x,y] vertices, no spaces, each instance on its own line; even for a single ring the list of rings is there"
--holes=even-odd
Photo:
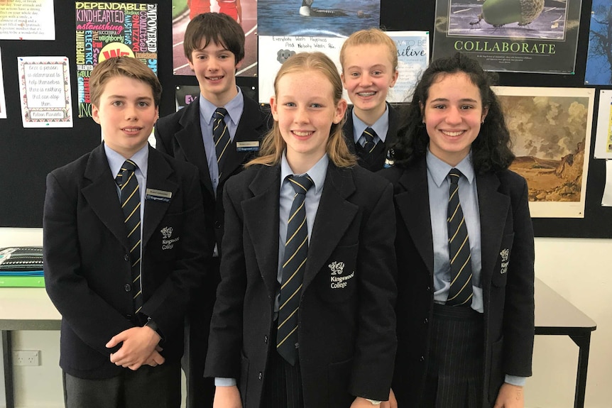
[[[387,400],[395,349],[395,209],[387,184],[360,231],[359,330],[349,392]]]

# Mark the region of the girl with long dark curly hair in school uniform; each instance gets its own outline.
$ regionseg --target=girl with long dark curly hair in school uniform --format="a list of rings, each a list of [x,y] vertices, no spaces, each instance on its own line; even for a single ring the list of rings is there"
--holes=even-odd
[[[491,77],[457,53],[425,70],[394,165],[398,354],[391,407],[523,408],[534,243]],[[395,397],[397,405],[395,405]]]

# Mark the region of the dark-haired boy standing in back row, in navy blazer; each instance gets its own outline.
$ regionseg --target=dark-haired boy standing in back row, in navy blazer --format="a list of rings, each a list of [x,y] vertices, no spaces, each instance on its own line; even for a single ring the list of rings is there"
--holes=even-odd
[[[244,58],[244,31],[233,18],[222,13],[196,16],[185,30],[184,48],[200,84],[200,97],[175,114],[160,118],[155,125],[155,147],[200,169],[206,233],[214,243],[212,273],[187,317],[183,358],[187,408],[202,408],[212,407],[214,394],[212,380],[202,375],[220,279],[223,186],[259,150],[260,140],[269,128],[269,114],[236,86],[236,70]]]

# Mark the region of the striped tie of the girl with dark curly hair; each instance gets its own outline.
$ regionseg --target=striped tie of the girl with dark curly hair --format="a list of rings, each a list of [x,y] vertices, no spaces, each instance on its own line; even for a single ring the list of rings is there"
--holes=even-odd
[[[449,172],[448,233],[449,258],[451,264],[451,286],[447,303],[449,306],[470,306],[472,297],[471,254],[467,227],[459,202],[459,178],[461,172]]]

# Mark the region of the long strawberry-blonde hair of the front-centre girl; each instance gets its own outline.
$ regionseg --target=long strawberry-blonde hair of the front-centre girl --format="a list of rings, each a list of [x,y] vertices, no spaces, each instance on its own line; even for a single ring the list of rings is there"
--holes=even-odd
[[[276,74],[274,94],[278,97],[278,81],[283,75],[303,72],[305,70],[321,72],[329,79],[334,89],[334,104],[337,105],[340,99],[342,99],[342,82],[336,65],[323,53],[299,53],[289,57],[281,65],[278,74]],[[329,160],[332,160],[337,167],[352,167],[357,164],[357,160],[350,152],[344,140],[344,133],[342,132],[344,121],[346,121],[346,117],[342,118],[339,123],[332,123],[326,150]],[[258,157],[246,163],[245,167],[251,165],[278,165],[286,147],[285,140],[283,140],[283,136],[280,134],[278,121],[274,121],[271,131],[261,141]]]

